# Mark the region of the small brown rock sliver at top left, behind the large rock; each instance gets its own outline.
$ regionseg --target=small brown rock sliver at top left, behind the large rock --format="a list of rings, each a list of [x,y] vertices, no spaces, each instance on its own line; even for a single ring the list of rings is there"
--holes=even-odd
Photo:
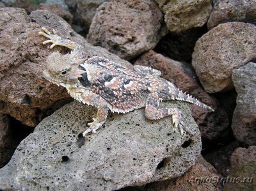
[[[68,24],[72,24],[73,15],[65,10],[60,4],[40,3],[37,9],[49,10],[52,13],[61,17],[62,19],[66,20]]]

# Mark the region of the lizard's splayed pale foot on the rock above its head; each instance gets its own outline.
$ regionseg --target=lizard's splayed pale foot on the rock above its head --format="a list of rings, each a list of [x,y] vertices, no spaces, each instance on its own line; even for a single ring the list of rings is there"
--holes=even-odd
[[[42,31],[40,31],[38,33],[38,35],[45,36],[46,38],[49,38],[49,40],[45,40],[43,42],[44,45],[47,43],[52,43],[50,49],[53,49],[56,45],[63,44],[62,38],[58,34],[56,34],[56,31],[54,29],[52,30],[52,33],[50,31],[48,31],[45,27],[42,27],[41,29],[42,29]]]

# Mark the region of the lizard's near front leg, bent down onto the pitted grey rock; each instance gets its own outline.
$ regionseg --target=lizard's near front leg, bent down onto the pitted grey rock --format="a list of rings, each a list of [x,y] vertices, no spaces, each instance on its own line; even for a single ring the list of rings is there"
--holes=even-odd
[[[108,116],[108,103],[99,95],[93,93],[92,91],[88,91],[87,89],[83,88],[67,88],[68,93],[79,100],[80,102],[86,103],[87,105],[92,105],[97,107],[97,117],[93,118],[92,123],[88,123],[90,126],[86,131],[83,132],[83,136],[85,137],[87,134],[92,132],[93,134],[96,133],[96,130],[102,126]]]

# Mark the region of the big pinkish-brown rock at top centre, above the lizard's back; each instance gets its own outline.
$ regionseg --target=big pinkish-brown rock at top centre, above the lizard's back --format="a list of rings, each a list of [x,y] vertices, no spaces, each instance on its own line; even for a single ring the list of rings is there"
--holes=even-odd
[[[152,0],[113,0],[97,9],[87,40],[129,60],[154,49],[167,32],[162,22],[163,14]]]

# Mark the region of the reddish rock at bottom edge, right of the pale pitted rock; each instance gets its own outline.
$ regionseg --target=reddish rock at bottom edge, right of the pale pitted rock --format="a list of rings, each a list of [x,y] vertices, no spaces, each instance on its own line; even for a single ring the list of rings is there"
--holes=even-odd
[[[200,155],[196,164],[189,169],[188,172],[180,176],[179,178],[159,181],[157,183],[150,183],[146,185],[143,191],[176,191],[176,190],[198,190],[198,191],[219,191],[221,190],[221,185],[218,182],[207,183],[206,181],[198,180],[198,178],[212,178],[221,177],[220,174],[214,169],[214,167],[209,164]]]

